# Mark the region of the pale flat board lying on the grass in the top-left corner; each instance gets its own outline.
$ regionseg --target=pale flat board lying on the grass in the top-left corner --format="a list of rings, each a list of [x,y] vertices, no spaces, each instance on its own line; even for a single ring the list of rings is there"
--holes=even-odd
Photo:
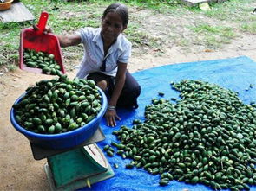
[[[0,22],[26,22],[33,21],[35,17],[30,13],[23,3],[12,3],[9,10],[0,11]]]

